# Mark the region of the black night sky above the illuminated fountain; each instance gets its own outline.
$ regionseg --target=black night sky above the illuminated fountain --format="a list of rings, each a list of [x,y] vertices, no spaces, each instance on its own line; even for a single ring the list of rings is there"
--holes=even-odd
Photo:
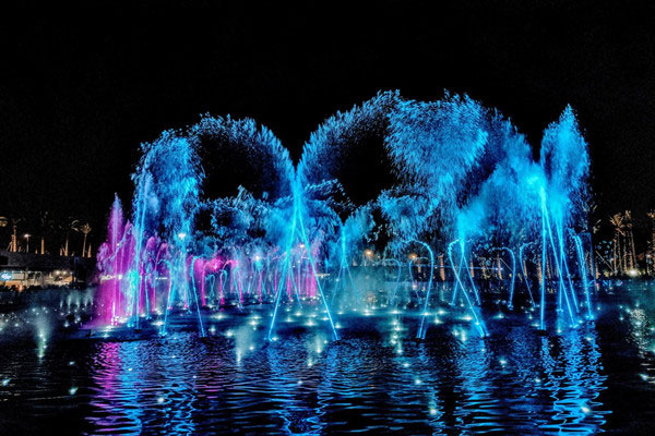
[[[394,88],[468,93],[533,144],[571,104],[603,213],[655,207],[651,1],[245,3],[3,13],[0,215],[102,221],[139,144],[204,112],[257,119],[297,159],[326,117]]]

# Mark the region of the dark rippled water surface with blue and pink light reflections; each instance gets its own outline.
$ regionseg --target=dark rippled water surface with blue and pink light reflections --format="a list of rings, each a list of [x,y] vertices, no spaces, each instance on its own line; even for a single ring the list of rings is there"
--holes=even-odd
[[[636,434],[654,414],[643,303],[561,336],[508,316],[480,339],[444,315],[425,342],[417,316],[378,311],[344,315],[338,342],[319,324],[266,343],[261,315],[215,317],[206,340],[99,342],[57,336],[53,314],[4,314],[0,420],[35,433],[585,435]]]

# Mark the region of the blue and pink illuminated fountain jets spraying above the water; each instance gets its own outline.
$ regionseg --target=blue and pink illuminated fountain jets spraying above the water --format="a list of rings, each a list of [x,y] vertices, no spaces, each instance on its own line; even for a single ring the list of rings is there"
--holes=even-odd
[[[371,137],[382,144],[395,183],[355,205],[341,182],[348,178],[343,159]],[[557,329],[594,317],[577,237],[586,230],[590,160],[571,108],[545,131],[538,161],[507,119],[468,97],[421,102],[397,93],[326,120],[297,166],[269,130],[229,117],[165,132],[142,152],[130,219],[117,198],[98,251],[107,323],[139,327],[142,317],[163,316],[165,334],[179,308],[198,315],[204,335],[203,307],[271,303],[267,338],[274,340],[281,305],[313,304],[337,339],[335,305],[368,311],[378,300],[364,298],[362,290],[377,286],[370,269],[350,268],[357,259],[361,268],[380,266],[378,252],[386,264],[398,263],[391,287],[382,289],[383,301],[396,306],[405,270],[397,259],[408,258],[405,300],[421,307],[419,340],[437,304],[436,253],[450,264],[442,280],[452,279],[451,304],[465,302],[483,337],[485,294],[474,269],[484,255],[498,258],[508,310],[522,292],[539,308],[539,328],[549,327],[547,311],[564,314],[553,322]],[[257,183],[248,190],[245,180],[234,196],[207,196],[212,174],[204,164],[212,156],[245,157]],[[427,277],[414,277],[422,268],[409,251],[416,249],[428,256]]]

